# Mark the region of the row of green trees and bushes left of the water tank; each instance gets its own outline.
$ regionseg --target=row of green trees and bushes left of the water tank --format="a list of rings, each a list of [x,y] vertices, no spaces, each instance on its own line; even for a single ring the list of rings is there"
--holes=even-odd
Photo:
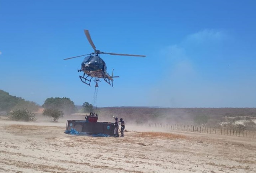
[[[15,121],[36,121],[33,112],[38,111],[39,106],[35,102],[27,101],[21,97],[10,95],[8,92],[0,90],[0,111],[9,113],[9,119]],[[52,117],[53,122],[58,121],[64,115],[78,112],[74,102],[67,97],[47,98],[42,107],[43,115]],[[88,113],[93,110],[92,104],[84,102],[81,113]]]

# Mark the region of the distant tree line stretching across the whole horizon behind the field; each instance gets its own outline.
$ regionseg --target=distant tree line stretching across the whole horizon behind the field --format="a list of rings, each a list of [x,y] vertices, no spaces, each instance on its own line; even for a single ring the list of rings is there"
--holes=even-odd
[[[0,90],[0,111],[23,110],[23,113],[35,112],[40,106],[35,102],[26,101],[21,97],[11,96],[9,93]],[[42,105],[43,115],[50,116],[53,121],[58,121],[63,115],[72,113],[90,113],[94,107],[89,102],[84,102],[78,110],[74,102],[67,97],[47,98]],[[198,125],[217,125],[226,119],[230,123],[245,116],[245,119],[256,118],[256,108],[148,108],[148,107],[107,107],[97,108],[101,117],[113,116],[126,119],[126,122],[185,122]],[[20,112],[21,113],[21,112]],[[25,115],[25,113],[24,113]],[[31,115],[31,114],[30,114]],[[253,122],[247,127],[254,127]]]

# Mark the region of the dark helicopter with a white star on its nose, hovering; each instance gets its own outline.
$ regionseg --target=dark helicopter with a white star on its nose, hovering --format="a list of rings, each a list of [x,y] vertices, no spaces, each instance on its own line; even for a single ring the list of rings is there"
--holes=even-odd
[[[120,53],[106,53],[106,52],[101,52],[100,50],[96,50],[96,47],[94,43],[92,42],[89,30],[85,29],[84,33],[86,35],[87,40],[89,41],[90,45],[94,49],[93,53],[89,54],[84,54],[80,56],[75,56],[75,57],[70,57],[66,58],[67,59],[72,59],[72,58],[78,58],[82,56],[87,56],[84,58],[84,60],[81,63],[81,69],[78,70],[78,72],[83,72],[83,76],[79,76],[81,82],[91,86],[91,80],[93,77],[95,77],[94,82],[96,82],[96,86],[98,87],[98,82],[101,82],[100,79],[104,79],[109,85],[112,85],[113,87],[113,78],[119,77],[119,76],[113,76],[114,69],[112,70],[112,75],[107,73],[107,66],[104,60],[100,57],[100,54],[110,54],[110,55],[120,55],[120,56],[134,56],[134,57],[146,57],[145,55],[134,55],[134,54],[120,54]],[[87,75],[85,77],[85,75]]]

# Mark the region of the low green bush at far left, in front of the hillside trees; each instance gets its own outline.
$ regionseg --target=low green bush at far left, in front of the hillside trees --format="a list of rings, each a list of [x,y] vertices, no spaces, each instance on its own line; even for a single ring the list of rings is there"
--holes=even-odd
[[[9,119],[14,121],[36,121],[35,114],[27,109],[18,109],[11,112]]]

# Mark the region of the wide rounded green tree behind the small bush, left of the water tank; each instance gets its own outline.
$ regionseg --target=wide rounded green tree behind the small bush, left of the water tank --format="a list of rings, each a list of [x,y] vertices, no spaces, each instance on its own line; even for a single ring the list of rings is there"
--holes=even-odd
[[[64,114],[71,114],[76,112],[75,104],[70,98],[51,97],[47,98],[42,105],[45,109],[62,110]]]

